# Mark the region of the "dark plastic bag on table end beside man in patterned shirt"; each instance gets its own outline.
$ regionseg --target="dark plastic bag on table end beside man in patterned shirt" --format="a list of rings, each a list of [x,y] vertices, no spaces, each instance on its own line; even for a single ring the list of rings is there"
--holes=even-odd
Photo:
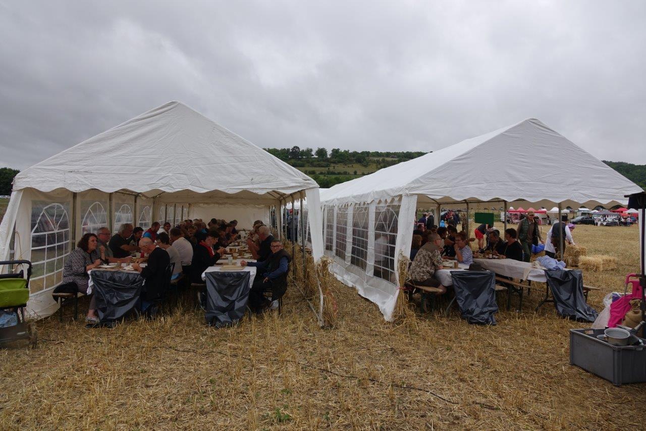
[[[455,300],[470,324],[495,325],[495,274],[491,271],[452,271]]]

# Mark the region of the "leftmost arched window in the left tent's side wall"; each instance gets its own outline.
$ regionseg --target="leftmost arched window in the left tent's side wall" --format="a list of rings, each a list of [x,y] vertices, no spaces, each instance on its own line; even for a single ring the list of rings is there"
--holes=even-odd
[[[54,287],[63,278],[70,250],[69,204],[32,203],[31,293]]]

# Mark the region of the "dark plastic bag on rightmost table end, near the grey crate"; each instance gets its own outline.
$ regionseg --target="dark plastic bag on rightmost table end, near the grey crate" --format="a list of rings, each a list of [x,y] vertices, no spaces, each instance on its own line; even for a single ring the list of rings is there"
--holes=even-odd
[[[546,269],[545,277],[554,296],[556,313],[572,320],[594,322],[598,313],[585,302],[580,269]]]

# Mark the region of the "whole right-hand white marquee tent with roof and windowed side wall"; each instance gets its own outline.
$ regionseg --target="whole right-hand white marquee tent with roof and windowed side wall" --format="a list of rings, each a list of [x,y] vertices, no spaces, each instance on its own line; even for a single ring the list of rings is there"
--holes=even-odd
[[[639,192],[536,119],[459,142],[321,193],[325,253],[342,282],[390,320],[397,258],[408,256],[416,208],[526,201],[561,207],[625,202]],[[310,206],[311,208],[311,206]],[[437,214],[436,214],[437,220]]]

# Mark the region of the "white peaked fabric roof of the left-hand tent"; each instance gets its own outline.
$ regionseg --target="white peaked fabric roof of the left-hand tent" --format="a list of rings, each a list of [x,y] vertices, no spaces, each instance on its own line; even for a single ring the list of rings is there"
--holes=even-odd
[[[187,105],[168,102],[22,171],[14,190],[26,187],[263,194],[318,185]]]

